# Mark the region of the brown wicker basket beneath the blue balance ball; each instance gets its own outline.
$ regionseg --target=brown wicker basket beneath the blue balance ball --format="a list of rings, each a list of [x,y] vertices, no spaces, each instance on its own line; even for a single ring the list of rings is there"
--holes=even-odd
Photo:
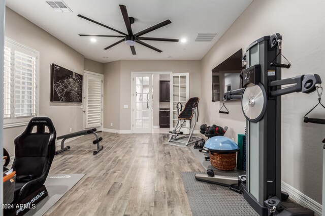
[[[236,152],[219,154],[210,151],[212,166],[220,170],[233,170],[236,167]]]

